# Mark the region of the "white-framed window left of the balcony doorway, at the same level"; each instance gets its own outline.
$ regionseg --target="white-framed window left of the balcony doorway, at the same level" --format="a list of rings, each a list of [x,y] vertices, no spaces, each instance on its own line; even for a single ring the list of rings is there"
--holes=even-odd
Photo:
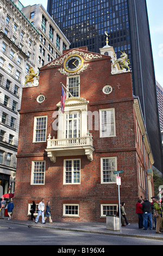
[[[34,118],[33,142],[46,142],[47,116]]]

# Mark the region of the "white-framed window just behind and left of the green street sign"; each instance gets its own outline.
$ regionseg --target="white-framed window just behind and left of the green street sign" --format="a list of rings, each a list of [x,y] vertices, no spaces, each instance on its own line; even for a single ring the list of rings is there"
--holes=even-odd
[[[116,157],[104,157],[101,158],[101,183],[115,183],[117,170],[117,158]]]

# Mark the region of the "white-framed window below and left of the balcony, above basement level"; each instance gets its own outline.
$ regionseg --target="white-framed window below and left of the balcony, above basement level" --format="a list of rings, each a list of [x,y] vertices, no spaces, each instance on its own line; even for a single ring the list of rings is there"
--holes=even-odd
[[[31,185],[45,184],[45,161],[32,161]]]

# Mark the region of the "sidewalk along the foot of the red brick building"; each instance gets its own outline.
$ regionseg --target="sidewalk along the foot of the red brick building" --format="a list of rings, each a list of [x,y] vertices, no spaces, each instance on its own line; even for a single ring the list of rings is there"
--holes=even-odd
[[[34,221],[21,221],[21,220],[10,220],[8,217],[5,217],[1,222],[9,224],[18,224],[18,225],[29,225],[30,227],[37,228],[49,228],[49,229],[58,229],[66,231],[76,231],[83,233],[93,233],[93,234],[103,234],[103,235],[115,235],[115,236],[130,236],[137,238],[145,239],[156,239],[163,241],[163,233],[156,234],[155,230],[143,230],[138,228],[138,223],[131,223],[126,227],[121,228],[120,231],[112,231],[106,229],[106,223],[100,222],[53,222],[49,223],[48,221],[45,224],[42,224],[40,221],[35,223]]]

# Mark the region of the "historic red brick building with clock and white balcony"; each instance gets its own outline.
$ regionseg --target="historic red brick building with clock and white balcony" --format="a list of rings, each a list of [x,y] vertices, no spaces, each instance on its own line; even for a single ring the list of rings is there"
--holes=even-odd
[[[45,198],[54,221],[105,222],[117,210],[116,170],[130,222],[137,199],[153,196],[153,156],[131,72],[114,72],[105,54],[66,50],[40,69],[39,86],[23,88],[15,218],[27,220],[32,201]],[[72,95],[64,113],[61,83]]]

